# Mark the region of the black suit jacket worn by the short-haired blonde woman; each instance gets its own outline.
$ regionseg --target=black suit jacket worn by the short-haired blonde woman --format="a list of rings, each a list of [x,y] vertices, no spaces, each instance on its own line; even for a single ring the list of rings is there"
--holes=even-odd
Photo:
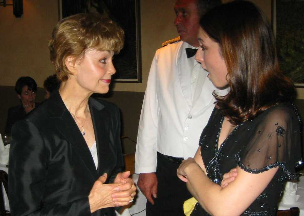
[[[9,155],[9,203],[15,215],[115,215],[90,213],[89,192],[103,173],[113,182],[123,169],[119,110],[90,97],[98,152],[96,167],[84,138],[58,92],[14,124]]]

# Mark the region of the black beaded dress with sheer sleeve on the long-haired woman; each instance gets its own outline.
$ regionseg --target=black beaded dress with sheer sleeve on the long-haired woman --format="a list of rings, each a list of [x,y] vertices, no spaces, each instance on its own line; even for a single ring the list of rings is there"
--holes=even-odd
[[[296,178],[295,166],[302,163],[300,117],[296,108],[291,103],[281,103],[263,111],[254,119],[237,125],[218,149],[224,117],[214,108],[200,137],[208,177],[220,184],[223,174],[236,166],[250,173],[280,166],[262,194],[242,213],[275,215],[284,183]],[[197,203],[191,213],[191,216],[196,215],[209,214]]]

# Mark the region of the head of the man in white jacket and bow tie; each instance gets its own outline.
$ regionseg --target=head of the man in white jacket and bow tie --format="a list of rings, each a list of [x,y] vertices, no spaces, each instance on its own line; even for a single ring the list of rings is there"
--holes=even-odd
[[[181,40],[198,47],[199,19],[208,10],[220,5],[220,0],[177,0],[174,10],[174,25]]]

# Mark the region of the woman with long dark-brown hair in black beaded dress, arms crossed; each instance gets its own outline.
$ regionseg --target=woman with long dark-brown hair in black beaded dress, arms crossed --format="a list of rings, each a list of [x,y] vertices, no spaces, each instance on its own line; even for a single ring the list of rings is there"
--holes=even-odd
[[[276,215],[301,150],[295,89],[279,69],[271,26],[246,1],[210,10],[200,26],[196,60],[216,87],[230,91],[214,94],[198,151],[177,170],[198,200],[191,215]],[[223,174],[235,167],[234,181],[221,187]]]

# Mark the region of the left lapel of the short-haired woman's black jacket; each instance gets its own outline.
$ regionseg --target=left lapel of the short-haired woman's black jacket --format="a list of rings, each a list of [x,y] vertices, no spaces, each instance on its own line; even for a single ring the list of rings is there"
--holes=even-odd
[[[51,111],[51,118],[57,118],[57,129],[72,145],[76,154],[79,155],[80,160],[83,161],[84,166],[90,171],[92,180],[96,180],[98,175],[91,152],[86,144],[83,135],[81,134],[77,124],[72,115],[64,105],[59,93],[49,98],[52,99],[53,107]],[[93,117],[92,117],[93,119]]]

